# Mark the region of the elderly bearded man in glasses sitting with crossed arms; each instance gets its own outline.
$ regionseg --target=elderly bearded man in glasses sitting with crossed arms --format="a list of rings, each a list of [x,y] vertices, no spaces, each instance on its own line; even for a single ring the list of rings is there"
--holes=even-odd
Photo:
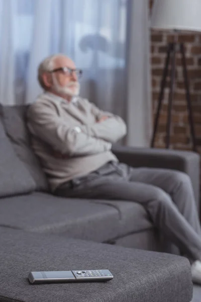
[[[79,75],[70,58],[46,58],[38,69],[44,93],[28,110],[33,148],[52,192],[140,203],[156,228],[187,255],[192,279],[201,283],[201,228],[188,176],[119,163],[111,146],[126,134],[126,125],[78,97]]]

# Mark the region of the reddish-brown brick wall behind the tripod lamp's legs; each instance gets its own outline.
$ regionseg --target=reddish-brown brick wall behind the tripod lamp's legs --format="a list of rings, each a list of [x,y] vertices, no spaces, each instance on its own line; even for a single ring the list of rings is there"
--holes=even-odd
[[[151,8],[150,1],[150,8]],[[172,34],[151,32],[151,67],[152,67],[152,99],[153,115],[155,117],[160,81],[166,57],[166,46],[173,39]],[[182,33],[179,41],[185,42],[187,70],[189,76],[189,87],[191,104],[194,118],[195,136],[198,151],[201,154],[201,34]],[[185,102],[185,90],[183,86],[181,58],[176,58],[176,85],[173,100],[172,127],[170,147],[175,149],[190,150],[192,148]],[[156,137],[156,147],[165,147],[165,126],[167,119],[167,101],[169,92],[168,84],[165,88],[164,101],[159,119]]]

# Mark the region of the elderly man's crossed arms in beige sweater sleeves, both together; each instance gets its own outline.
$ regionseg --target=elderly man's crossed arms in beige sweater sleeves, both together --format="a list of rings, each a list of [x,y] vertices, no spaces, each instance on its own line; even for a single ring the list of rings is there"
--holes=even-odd
[[[89,102],[87,105],[96,117],[94,124],[72,126],[56,114],[52,104],[38,102],[28,110],[28,127],[33,135],[62,155],[87,156],[106,152],[113,142],[126,134],[126,124],[119,116],[99,110]]]

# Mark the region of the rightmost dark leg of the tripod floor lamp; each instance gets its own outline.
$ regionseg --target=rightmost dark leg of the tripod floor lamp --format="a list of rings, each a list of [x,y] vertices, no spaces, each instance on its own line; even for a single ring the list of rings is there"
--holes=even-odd
[[[183,43],[180,44],[180,52],[181,52],[181,58],[182,58],[183,78],[184,78],[184,85],[185,85],[185,92],[186,92],[186,101],[187,101],[187,110],[188,110],[188,120],[189,120],[189,124],[190,124],[190,133],[191,133],[191,138],[192,138],[193,151],[196,152],[194,125],[193,125],[193,118],[192,118],[192,109],[191,109],[190,93],[189,93],[189,85],[188,85],[188,75],[187,75],[185,50],[184,50]]]

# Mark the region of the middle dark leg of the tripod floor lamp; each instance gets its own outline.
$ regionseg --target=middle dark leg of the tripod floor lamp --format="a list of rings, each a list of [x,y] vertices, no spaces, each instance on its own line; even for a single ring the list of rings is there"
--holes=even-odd
[[[168,116],[167,116],[167,126],[166,126],[166,148],[169,148],[170,142],[170,127],[171,127],[171,113],[172,113],[172,100],[174,95],[174,84],[175,84],[175,74],[176,74],[176,43],[172,46],[172,62],[171,62],[171,81],[170,81],[170,92],[168,99]]]

